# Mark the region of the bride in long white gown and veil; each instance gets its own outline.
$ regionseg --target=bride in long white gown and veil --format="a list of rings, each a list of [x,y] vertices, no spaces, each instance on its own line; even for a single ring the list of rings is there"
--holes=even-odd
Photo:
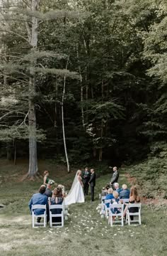
[[[81,170],[76,171],[76,176],[72,183],[71,189],[65,198],[65,205],[70,205],[71,203],[84,203],[84,190],[83,183],[81,180]]]

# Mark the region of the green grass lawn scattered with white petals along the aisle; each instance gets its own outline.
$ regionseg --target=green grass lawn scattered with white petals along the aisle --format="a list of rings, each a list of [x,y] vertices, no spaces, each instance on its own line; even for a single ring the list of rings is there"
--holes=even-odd
[[[48,169],[57,183],[70,187],[74,172],[57,171],[57,166],[49,162],[43,168],[40,164],[40,169]],[[0,255],[166,256],[165,208],[142,206],[141,226],[111,228],[100,218],[96,210],[98,193],[110,181],[110,175],[97,178],[95,202],[87,196],[86,203],[70,206],[64,228],[32,228],[28,201],[42,181],[20,181],[27,163],[13,166],[0,161],[0,166],[0,203],[6,206],[0,210]],[[125,171],[120,170],[119,181],[121,185],[127,183]]]

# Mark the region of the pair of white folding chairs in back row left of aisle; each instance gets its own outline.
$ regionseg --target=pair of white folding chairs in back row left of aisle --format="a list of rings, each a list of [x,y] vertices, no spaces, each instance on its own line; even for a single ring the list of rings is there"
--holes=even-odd
[[[44,213],[40,215],[35,215],[34,210],[35,209],[44,209]],[[52,209],[61,209],[62,213],[59,214],[53,214]],[[33,220],[33,228],[38,228],[39,226],[46,227],[47,225],[47,206],[46,205],[33,205],[32,206],[32,220]],[[64,227],[64,203],[62,205],[49,205],[49,213],[50,213],[50,227],[55,228],[62,228]],[[53,222],[52,218],[61,218],[61,222]],[[38,218],[42,218],[43,222],[41,221],[38,223]]]

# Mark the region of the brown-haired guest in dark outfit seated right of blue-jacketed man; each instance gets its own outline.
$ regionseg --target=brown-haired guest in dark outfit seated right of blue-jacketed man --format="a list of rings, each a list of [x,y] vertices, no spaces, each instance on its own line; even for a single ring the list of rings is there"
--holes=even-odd
[[[50,204],[51,205],[62,205],[63,202],[63,195],[62,195],[62,188],[54,188],[54,191],[52,193],[52,198],[50,198]],[[62,209],[51,209],[52,214],[61,214]],[[52,222],[61,222],[61,217],[53,217]]]

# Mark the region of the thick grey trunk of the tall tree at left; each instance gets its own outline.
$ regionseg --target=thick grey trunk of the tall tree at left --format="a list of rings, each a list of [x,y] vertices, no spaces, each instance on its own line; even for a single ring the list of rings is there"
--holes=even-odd
[[[39,9],[40,0],[31,0],[31,11],[35,12]],[[30,29],[30,27],[27,27]],[[38,46],[38,18],[32,17],[31,30],[28,30],[29,41],[31,50],[35,50]],[[30,80],[29,80],[29,95],[28,95],[28,124],[29,124],[29,169],[28,176],[35,176],[38,172],[38,160],[37,160],[37,138],[36,138],[36,114],[35,114],[35,71],[33,67],[35,61],[31,62],[30,67]]]

